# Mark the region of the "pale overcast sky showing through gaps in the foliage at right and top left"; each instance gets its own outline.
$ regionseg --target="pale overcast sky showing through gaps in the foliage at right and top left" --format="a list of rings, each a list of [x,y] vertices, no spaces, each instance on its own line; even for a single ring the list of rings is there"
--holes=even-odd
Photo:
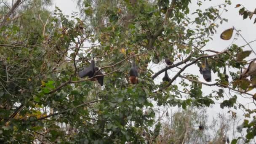
[[[193,2],[193,4],[189,5],[190,12],[194,12],[195,9],[198,8],[197,4],[195,3],[196,1],[192,0],[192,2]],[[206,2],[203,2],[203,5],[200,7],[200,9],[202,11],[204,11],[205,8],[208,8],[210,6],[216,6],[216,5],[219,5],[223,2],[224,2],[224,0],[212,0],[211,2],[206,1]],[[253,21],[256,18],[256,16],[254,15],[251,20],[250,19],[243,20],[243,16],[239,16],[239,14],[238,14],[238,11],[239,11],[240,8],[235,8],[235,5],[238,4],[236,2],[238,2],[238,0],[232,0],[232,5],[227,6],[228,12],[224,12],[222,14],[222,17],[228,19],[228,22],[227,23],[224,22],[222,25],[220,25],[220,27],[217,29],[217,33],[213,36],[213,40],[210,41],[205,46],[204,50],[205,49],[211,49],[211,50],[214,50],[214,51],[223,51],[225,48],[229,47],[232,43],[235,43],[238,46],[245,45],[246,43],[241,37],[237,37],[238,39],[234,40],[234,41],[233,40],[225,41],[225,40],[220,39],[221,32],[223,32],[225,29],[231,28],[232,26],[234,26],[236,29],[241,30],[240,34],[248,42],[256,40],[256,24],[253,24]],[[243,4],[250,11],[254,11],[254,9],[256,8],[256,0],[243,0],[243,1],[240,1],[240,2],[241,2],[240,4]],[[71,15],[72,12],[79,12],[79,9],[77,8],[77,3],[74,0],[54,0],[54,5],[58,6],[63,11],[63,13],[66,14],[66,15]],[[233,35],[233,37],[235,37],[235,35]],[[251,43],[250,45],[254,49],[254,51],[256,51],[256,42]],[[244,48],[244,50],[251,50],[251,49],[248,46],[246,46]],[[209,54],[212,54],[212,53],[209,53]],[[256,56],[254,55],[254,53],[251,53],[250,57],[247,58],[247,59],[253,59],[253,58],[256,58]],[[161,64],[157,67],[154,67],[154,69],[153,69],[154,72],[157,72],[160,67],[162,67],[162,68],[165,67],[165,64]],[[175,72],[175,69],[173,71]],[[227,69],[227,71],[229,71],[229,69]],[[175,74],[174,72],[171,72],[169,70],[169,76],[172,77],[172,75]],[[200,75],[200,73],[199,73],[199,68],[196,65],[193,65],[192,67],[187,68],[185,72],[190,72],[194,75],[199,75],[200,76],[200,81],[205,82],[202,75]],[[183,72],[183,73],[185,73],[185,72]],[[159,75],[156,78],[155,83],[160,83],[163,75],[164,75],[164,73]],[[214,74],[212,72],[212,82],[211,83],[215,83],[214,79],[216,78],[216,75],[217,75],[217,73]],[[215,87],[214,89],[218,90],[219,88]],[[213,90],[213,87],[208,87],[208,86],[203,85],[203,93],[205,95],[208,95],[209,93],[211,93],[211,90]],[[226,92],[228,92],[228,91],[226,91]],[[227,97],[225,99],[227,99]],[[223,101],[223,100],[221,100],[221,101]],[[251,102],[252,99],[245,99],[245,98],[242,98],[241,96],[238,96],[237,101],[239,101],[242,104],[245,104],[245,106],[247,108],[252,109],[252,108],[255,107],[254,104],[247,104],[248,101]],[[243,114],[244,114],[243,111],[238,110],[238,109],[237,110],[232,109],[232,110],[237,112],[237,116],[239,118],[243,118]],[[211,122],[212,117],[216,117],[216,115],[219,112],[226,113],[227,111],[229,111],[228,108],[221,109],[219,104],[215,104],[213,107],[208,108],[209,122]]]

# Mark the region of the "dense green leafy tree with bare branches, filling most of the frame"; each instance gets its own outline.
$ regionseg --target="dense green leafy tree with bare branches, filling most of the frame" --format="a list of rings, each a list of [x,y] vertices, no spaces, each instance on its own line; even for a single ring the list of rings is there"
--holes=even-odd
[[[237,98],[246,96],[255,104],[255,50],[232,26],[219,38],[242,37],[246,45],[232,43],[222,51],[205,49],[214,41],[219,25],[228,21],[221,14],[228,11],[231,1],[195,11],[189,9],[190,3],[200,6],[204,2],[77,0],[81,13],[67,16],[58,7],[49,11],[51,0],[15,0],[12,4],[3,0],[1,143],[154,144],[160,142],[164,128],[155,107],[177,106],[187,109],[172,115],[176,130],[172,136],[181,137],[165,141],[180,144],[182,139],[196,140],[182,134],[199,124],[191,108],[204,109],[216,101],[221,101],[222,109],[244,111],[247,133],[230,139],[232,144],[239,139],[252,141],[256,121],[248,118],[255,109]],[[237,16],[244,19],[256,14],[241,4],[236,7]],[[247,46],[251,49],[245,50]],[[138,83],[130,81],[132,61]],[[198,69],[196,75],[188,70],[191,67]],[[82,71],[88,77],[82,77]],[[164,72],[168,78],[162,82]],[[201,75],[204,80],[199,80]],[[103,76],[101,86],[99,77]],[[205,95],[202,85],[211,93]],[[236,112],[229,112],[235,119]],[[227,127],[224,124],[221,128]],[[218,136],[226,131],[222,129]],[[205,135],[194,131],[191,136]],[[212,141],[222,141],[224,136],[218,136]]]

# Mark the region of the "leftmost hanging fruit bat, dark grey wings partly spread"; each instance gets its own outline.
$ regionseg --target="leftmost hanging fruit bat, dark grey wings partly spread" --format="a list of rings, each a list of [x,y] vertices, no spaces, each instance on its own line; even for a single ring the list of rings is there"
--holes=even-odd
[[[84,70],[78,72],[79,77],[83,78],[88,76],[89,78],[93,77],[91,81],[98,80],[99,84],[103,85],[104,76],[95,77],[96,75],[103,75],[102,72],[98,71],[99,68],[95,67],[95,61],[91,61],[91,64],[89,67],[85,67]],[[98,71],[98,72],[97,72]],[[96,72],[96,74],[95,74]],[[95,75],[94,75],[95,74]]]

